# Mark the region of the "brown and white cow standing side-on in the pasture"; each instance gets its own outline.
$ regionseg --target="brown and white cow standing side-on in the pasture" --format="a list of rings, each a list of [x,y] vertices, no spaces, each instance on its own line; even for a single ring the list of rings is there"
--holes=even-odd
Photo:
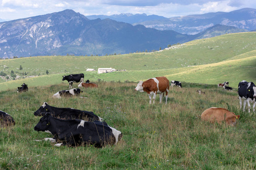
[[[136,91],[140,92],[147,92],[148,96],[150,97],[150,104],[151,104],[151,96],[153,95],[153,104],[155,103],[156,94],[160,96],[160,103],[162,103],[162,97],[164,92],[166,92],[166,104],[169,92],[169,80],[165,76],[160,76],[156,78],[151,78],[146,81],[139,81],[137,87],[135,87]]]

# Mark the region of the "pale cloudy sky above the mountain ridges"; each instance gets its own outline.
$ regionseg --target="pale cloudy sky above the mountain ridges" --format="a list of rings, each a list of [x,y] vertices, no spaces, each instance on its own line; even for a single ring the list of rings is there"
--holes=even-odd
[[[255,0],[0,0],[0,19],[14,20],[66,9],[82,15],[121,13],[160,15],[166,18],[208,12],[256,8]]]

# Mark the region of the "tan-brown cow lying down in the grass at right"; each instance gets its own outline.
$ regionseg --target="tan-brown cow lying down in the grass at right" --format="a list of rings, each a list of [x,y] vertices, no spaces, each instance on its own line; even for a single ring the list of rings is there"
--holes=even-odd
[[[209,122],[218,122],[221,124],[222,121],[225,121],[226,124],[235,126],[237,119],[240,118],[239,115],[234,114],[233,112],[228,111],[224,108],[209,108],[206,109],[201,114],[201,119]]]

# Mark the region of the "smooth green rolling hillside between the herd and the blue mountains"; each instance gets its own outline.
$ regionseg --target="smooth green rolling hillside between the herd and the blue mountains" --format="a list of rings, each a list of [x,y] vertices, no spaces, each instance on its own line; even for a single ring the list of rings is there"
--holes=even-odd
[[[243,79],[256,81],[255,32],[234,33],[190,41],[154,53],[133,53],[115,56],[42,56],[0,60],[1,71],[11,79],[11,70],[18,80],[0,79],[0,90],[15,89],[23,82],[30,86],[61,83],[63,75],[84,73],[85,79],[96,81],[126,80],[137,82],[154,76],[183,82],[217,84],[229,81],[236,87]],[[22,70],[19,70],[20,65]],[[88,68],[112,67],[108,74],[86,72]],[[48,70],[49,75],[46,74]],[[26,72],[26,75],[24,74]],[[32,77],[31,77],[32,76]],[[6,78],[6,77],[5,77]],[[67,82],[63,82],[66,83]],[[67,86],[68,87],[68,86]]]

